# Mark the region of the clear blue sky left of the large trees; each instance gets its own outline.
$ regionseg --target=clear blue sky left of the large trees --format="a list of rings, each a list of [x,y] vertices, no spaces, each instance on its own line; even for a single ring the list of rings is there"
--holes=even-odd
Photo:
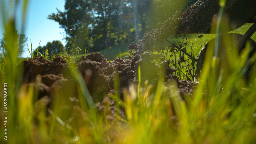
[[[1,0],[2,1],[2,0]],[[4,0],[5,5],[9,4],[9,0]],[[28,4],[27,19],[25,23],[24,33],[28,37],[28,46],[30,48],[30,39],[32,42],[32,48],[35,49],[38,47],[41,40],[40,46],[46,45],[47,42],[53,40],[60,40],[65,46],[64,30],[59,28],[59,24],[54,20],[47,19],[48,15],[51,13],[57,13],[57,9],[61,11],[64,10],[65,0],[30,0]],[[8,11],[12,9],[8,9]],[[1,6],[2,11],[2,6]],[[1,12],[2,13],[2,12]],[[8,13],[8,12],[6,12]],[[5,15],[6,15],[5,13]],[[2,13],[3,14],[3,13]],[[17,16],[19,17],[20,8],[17,9]],[[7,15],[6,15],[7,16]],[[2,15],[1,15],[2,21]],[[20,18],[17,18],[17,25],[20,26]],[[0,38],[3,37],[4,29],[3,24],[0,22]],[[20,27],[17,27],[20,31]],[[26,46],[27,48],[27,46]],[[22,57],[27,57],[27,50],[24,51]]]

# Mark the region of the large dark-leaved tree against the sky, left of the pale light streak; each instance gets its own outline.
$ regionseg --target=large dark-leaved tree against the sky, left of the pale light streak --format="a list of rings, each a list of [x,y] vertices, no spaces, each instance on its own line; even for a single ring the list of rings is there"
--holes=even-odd
[[[48,19],[55,20],[65,29],[68,45],[72,42],[73,48],[79,46],[83,51],[85,48],[101,50],[116,44],[120,38],[126,38],[124,34],[131,34],[133,28],[133,23],[119,18],[132,13],[132,5],[127,1],[66,0],[64,12],[57,10]]]

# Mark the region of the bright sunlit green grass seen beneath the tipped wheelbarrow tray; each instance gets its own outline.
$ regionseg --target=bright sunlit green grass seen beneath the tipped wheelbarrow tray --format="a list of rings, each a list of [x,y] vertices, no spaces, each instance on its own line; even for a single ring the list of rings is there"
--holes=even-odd
[[[252,24],[245,24],[236,30],[230,31],[229,33],[244,34],[251,26]],[[172,43],[175,43],[176,46],[178,47],[182,45],[183,48],[184,47],[186,48],[188,54],[191,55],[191,52],[193,52],[193,57],[197,59],[200,50],[206,45],[206,43],[208,43],[210,40],[216,37],[216,34],[202,34],[202,37],[200,35],[201,34],[177,36],[177,37],[171,36],[167,40]],[[256,34],[253,34],[251,36],[251,39],[255,41]],[[168,42],[166,44],[169,45]],[[180,52],[177,48],[174,53],[174,51],[170,51],[170,48],[168,47],[166,47],[166,49],[162,50],[160,53],[157,53],[157,52],[154,52],[154,53],[160,54],[164,59],[171,59],[172,61],[170,65],[173,66],[173,68],[177,69],[176,74],[180,76],[180,79],[190,80],[190,81],[194,80],[193,70],[196,71],[196,67],[193,68],[191,64],[192,61],[189,56],[187,56],[186,54],[183,54],[183,52]],[[178,64],[180,60],[180,56],[184,56],[186,62],[181,61],[180,64]],[[189,74],[190,70],[191,70],[192,76]]]

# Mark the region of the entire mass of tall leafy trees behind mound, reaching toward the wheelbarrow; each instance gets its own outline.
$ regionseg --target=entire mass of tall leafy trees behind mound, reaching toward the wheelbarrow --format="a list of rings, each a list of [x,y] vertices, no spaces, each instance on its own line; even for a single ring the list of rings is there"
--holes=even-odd
[[[65,30],[66,47],[71,43],[70,50],[79,47],[92,52],[134,40],[161,26],[177,4],[172,0],[65,0],[65,10],[57,9],[48,19]]]

